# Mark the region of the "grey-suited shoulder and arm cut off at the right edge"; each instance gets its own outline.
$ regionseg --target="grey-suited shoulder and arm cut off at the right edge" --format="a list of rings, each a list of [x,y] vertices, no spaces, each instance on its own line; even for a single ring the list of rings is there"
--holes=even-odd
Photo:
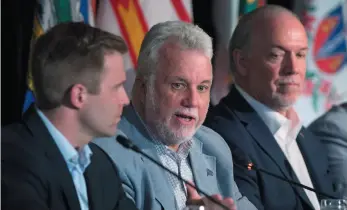
[[[347,199],[347,102],[333,106],[308,127],[328,150],[334,186]]]

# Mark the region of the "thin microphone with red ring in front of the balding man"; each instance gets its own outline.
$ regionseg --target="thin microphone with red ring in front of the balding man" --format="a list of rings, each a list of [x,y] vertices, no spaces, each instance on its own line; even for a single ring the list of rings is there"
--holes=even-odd
[[[245,158],[245,157],[246,157],[245,155],[242,155],[242,154],[240,154],[240,153],[242,153],[242,152],[239,151],[239,150],[235,150],[235,154],[236,154],[236,155],[235,155],[235,154],[234,154],[234,155],[237,156],[237,160],[238,160],[239,162],[242,163],[242,165],[240,165],[240,164],[235,163],[235,161],[234,161],[234,164],[235,164],[236,166],[238,166],[238,167],[247,168],[247,170],[249,170],[249,171],[254,170],[254,171],[258,171],[258,172],[267,174],[267,175],[269,175],[269,176],[275,177],[275,178],[280,179],[280,180],[282,180],[282,181],[284,181],[284,182],[287,182],[287,183],[289,183],[289,184],[296,185],[296,186],[302,187],[302,188],[304,188],[304,189],[310,190],[310,191],[316,193],[317,195],[321,195],[321,196],[324,196],[324,197],[326,197],[326,198],[338,199],[338,198],[335,197],[335,196],[332,196],[332,195],[329,195],[329,194],[327,194],[327,193],[318,191],[318,190],[316,190],[316,189],[313,189],[313,188],[308,187],[308,186],[306,186],[306,185],[303,185],[303,184],[301,184],[301,183],[292,181],[292,180],[290,180],[290,179],[287,179],[287,178],[285,178],[285,177],[282,177],[282,176],[280,176],[280,175],[274,174],[274,173],[269,172],[269,171],[267,171],[267,170],[265,170],[265,169],[262,169],[262,168],[260,168],[260,167],[257,167],[252,161],[249,161],[249,159]],[[233,156],[234,156],[234,155],[233,155]]]

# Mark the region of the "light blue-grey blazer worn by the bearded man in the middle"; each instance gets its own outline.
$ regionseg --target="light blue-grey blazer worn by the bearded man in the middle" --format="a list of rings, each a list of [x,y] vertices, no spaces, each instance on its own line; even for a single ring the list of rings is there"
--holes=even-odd
[[[131,105],[124,109],[117,135],[131,139],[143,152],[160,162],[150,135]],[[232,156],[225,141],[204,126],[193,138],[189,158],[195,184],[210,195],[218,193],[232,197],[238,210],[256,209],[236,186]],[[115,137],[99,138],[94,142],[117,164],[125,192],[139,209],[175,209],[174,193],[163,169],[142,155],[123,148]]]

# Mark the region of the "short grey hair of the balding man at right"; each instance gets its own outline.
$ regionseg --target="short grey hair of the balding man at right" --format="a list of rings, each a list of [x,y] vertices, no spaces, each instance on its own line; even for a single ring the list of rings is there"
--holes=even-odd
[[[266,17],[276,17],[279,13],[290,14],[299,20],[297,15],[292,11],[281,6],[271,4],[255,9],[252,12],[249,12],[240,18],[229,42],[229,63],[233,79],[235,79],[234,74],[236,71],[236,64],[233,58],[234,50],[238,49],[241,50],[241,52],[248,54],[251,50],[251,39],[254,28],[253,26],[254,23],[258,20],[258,17],[264,19]]]

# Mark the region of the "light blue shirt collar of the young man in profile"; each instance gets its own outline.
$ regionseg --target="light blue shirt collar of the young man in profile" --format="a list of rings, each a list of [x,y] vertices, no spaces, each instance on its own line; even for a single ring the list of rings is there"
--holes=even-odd
[[[67,164],[79,164],[85,170],[90,164],[90,158],[93,152],[89,145],[85,145],[77,151],[66,137],[51,123],[51,121],[40,111],[36,109],[41,120],[51,134],[54,142],[58,146],[63,158]]]

